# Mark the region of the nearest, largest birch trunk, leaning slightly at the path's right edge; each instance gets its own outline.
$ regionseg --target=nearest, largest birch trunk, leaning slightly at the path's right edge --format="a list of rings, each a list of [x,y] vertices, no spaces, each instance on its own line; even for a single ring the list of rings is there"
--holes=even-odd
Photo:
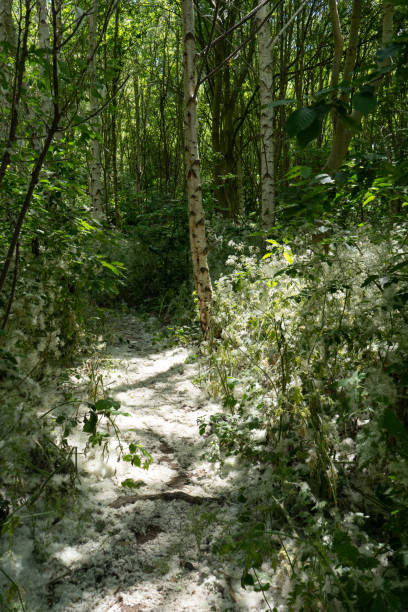
[[[184,147],[185,171],[194,284],[198,298],[201,329],[210,325],[212,287],[207,263],[207,238],[202,203],[196,91],[196,48],[193,0],[183,0],[184,59]]]

